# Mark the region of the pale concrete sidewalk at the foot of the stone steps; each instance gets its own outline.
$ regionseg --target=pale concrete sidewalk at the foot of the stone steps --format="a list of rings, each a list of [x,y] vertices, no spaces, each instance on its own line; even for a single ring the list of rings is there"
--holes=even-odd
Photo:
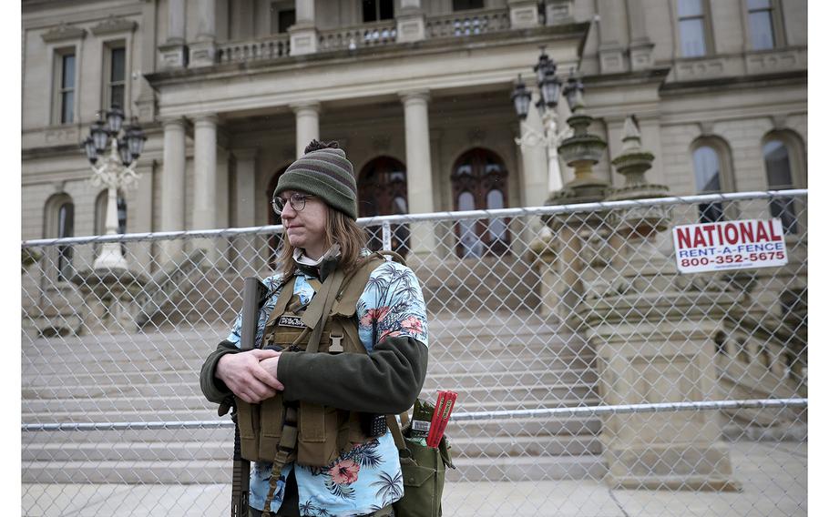
[[[444,515],[666,517],[806,515],[808,445],[732,443],[742,492],[609,490],[600,481],[452,482]],[[22,515],[226,517],[228,485],[24,484]]]

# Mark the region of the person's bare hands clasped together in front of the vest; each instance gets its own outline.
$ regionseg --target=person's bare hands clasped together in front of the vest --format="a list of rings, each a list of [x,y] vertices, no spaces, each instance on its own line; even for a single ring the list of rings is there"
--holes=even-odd
[[[216,377],[241,400],[255,404],[276,395],[277,390],[285,387],[276,379],[276,375],[265,370],[260,361],[276,359],[280,352],[276,350],[253,349],[235,354],[221,356],[216,365]],[[274,373],[276,370],[273,370]]]

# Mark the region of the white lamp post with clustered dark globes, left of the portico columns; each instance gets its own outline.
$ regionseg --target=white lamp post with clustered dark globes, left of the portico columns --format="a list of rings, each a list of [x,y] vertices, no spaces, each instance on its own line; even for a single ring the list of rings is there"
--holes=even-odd
[[[118,189],[134,186],[138,174],[134,169],[138,157],[144,150],[147,137],[138,126],[136,117],[127,127],[124,112],[119,106],[108,111],[99,111],[98,119],[89,130],[89,137],[83,147],[92,166],[90,182],[95,187],[107,187],[107,235],[118,233]],[[109,154],[104,156],[109,147]],[[99,157],[102,161],[98,164]],[[127,260],[121,253],[118,242],[106,242],[101,254],[95,259],[93,269],[127,269]]]

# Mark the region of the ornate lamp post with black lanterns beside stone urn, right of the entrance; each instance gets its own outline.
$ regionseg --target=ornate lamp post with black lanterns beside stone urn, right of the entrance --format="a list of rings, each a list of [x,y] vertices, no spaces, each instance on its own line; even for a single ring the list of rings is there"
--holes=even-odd
[[[538,145],[547,147],[548,189],[550,192],[556,192],[564,186],[561,168],[558,167],[558,145],[571,134],[571,129],[565,127],[558,132],[556,106],[562,94],[561,80],[556,75],[556,63],[544,52],[544,46],[540,48],[541,55],[538,56],[538,63],[533,67],[533,71],[536,73],[539,93],[536,107],[538,114],[541,116],[544,132],[543,134],[538,133],[527,124],[529,105],[532,102],[532,91],[527,89],[527,85],[521,80],[519,74],[515,89],[512,92],[512,101],[522,128],[522,136],[516,138],[516,144],[522,148]],[[564,94],[567,96],[568,102],[570,101],[570,95],[568,95],[570,90],[568,88],[574,87],[571,84],[572,81],[577,80],[571,75],[568,79],[568,86],[564,87]],[[581,86],[581,83],[578,82],[578,85]],[[581,91],[584,91],[584,86],[581,86]]]

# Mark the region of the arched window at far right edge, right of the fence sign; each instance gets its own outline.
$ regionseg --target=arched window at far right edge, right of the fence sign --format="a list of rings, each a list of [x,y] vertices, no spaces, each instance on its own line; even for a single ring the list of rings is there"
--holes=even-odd
[[[797,139],[784,133],[775,133],[764,138],[763,142],[762,159],[769,189],[783,190],[802,185],[799,178],[804,175],[798,172],[804,160],[801,159],[801,147]],[[794,198],[774,198],[769,209],[773,218],[780,218],[785,233],[797,233],[798,208]]]

